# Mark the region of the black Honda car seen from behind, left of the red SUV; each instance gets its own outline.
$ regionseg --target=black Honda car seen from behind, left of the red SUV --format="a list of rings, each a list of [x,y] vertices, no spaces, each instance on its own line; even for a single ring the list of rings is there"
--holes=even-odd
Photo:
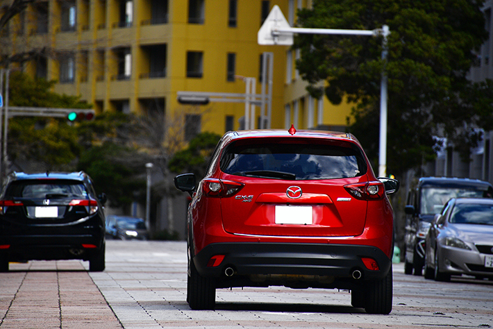
[[[88,260],[105,268],[103,204],[77,173],[13,173],[0,194],[0,271],[25,260]]]

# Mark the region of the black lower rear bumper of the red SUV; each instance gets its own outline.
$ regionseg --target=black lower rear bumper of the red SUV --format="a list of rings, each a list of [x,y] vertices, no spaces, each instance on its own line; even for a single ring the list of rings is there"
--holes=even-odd
[[[208,267],[215,255],[224,255],[224,260]],[[379,269],[367,269],[362,258],[376,260]],[[358,281],[381,280],[392,265],[387,255],[374,246],[306,243],[210,244],[193,261],[201,276],[210,278],[226,278],[225,271],[231,268],[234,276],[331,276],[334,280],[354,280],[353,272],[360,271]]]

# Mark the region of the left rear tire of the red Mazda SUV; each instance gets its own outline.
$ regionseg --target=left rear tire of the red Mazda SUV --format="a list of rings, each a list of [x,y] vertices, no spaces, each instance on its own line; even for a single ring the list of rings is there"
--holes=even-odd
[[[188,305],[192,310],[214,310],[216,305],[216,286],[212,278],[204,278],[190,260],[190,276],[187,282]]]

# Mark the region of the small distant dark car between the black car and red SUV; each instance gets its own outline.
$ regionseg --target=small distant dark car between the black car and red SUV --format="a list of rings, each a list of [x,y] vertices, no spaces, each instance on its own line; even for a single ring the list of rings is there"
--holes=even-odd
[[[112,214],[106,217],[106,235],[120,240],[149,239],[144,219]]]

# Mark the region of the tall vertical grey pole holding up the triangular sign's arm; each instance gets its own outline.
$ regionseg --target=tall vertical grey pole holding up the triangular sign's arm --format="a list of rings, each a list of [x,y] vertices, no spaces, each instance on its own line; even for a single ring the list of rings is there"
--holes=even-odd
[[[387,62],[387,35],[389,27],[384,25],[382,28],[382,81],[380,89],[380,146],[378,150],[378,176],[387,176],[387,72],[385,63]]]

